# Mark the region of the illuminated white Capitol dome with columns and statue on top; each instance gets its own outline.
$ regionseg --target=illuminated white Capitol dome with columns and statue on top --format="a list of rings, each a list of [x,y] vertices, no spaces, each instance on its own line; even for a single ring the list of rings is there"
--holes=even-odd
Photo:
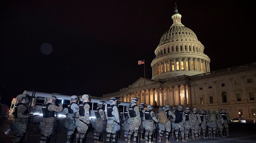
[[[204,54],[204,45],[181,23],[176,4],[172,20],[172,26],[155,49],[156,58],[151,63],[152,80],[210,72],[210,58]]]

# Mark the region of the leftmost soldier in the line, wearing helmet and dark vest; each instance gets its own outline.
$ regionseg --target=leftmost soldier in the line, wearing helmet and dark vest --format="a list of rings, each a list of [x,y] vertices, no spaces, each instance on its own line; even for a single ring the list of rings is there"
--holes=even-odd
[[[27,96],[25,94],[19,94],[17,96],[18,103],[14,109],[14,121],[13,125],[15,127],[13,134],[13,142],[19,143],[22,141],[24,134],[27,129],[27,118],[30,117],[28,113],[28,108],[25,105],[28,102]]]

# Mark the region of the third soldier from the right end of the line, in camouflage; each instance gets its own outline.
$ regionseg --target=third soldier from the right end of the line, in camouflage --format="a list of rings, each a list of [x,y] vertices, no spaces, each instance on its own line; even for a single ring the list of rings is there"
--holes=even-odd
[[[216,127],[217,127],[217,119],[215,114],[213,113],[213,110],[209,110],[209,115],[208,115],[208,124],[209,124],[209,132],[208,132],[208,137],[211,138],[211,133],[213,132],[213,137],[215,138],[216,134]]]

